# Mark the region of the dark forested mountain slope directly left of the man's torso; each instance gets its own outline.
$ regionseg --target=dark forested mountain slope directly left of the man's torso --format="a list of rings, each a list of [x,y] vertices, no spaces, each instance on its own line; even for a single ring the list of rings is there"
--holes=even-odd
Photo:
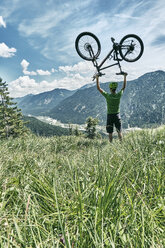
[[[53,108],[49,116],[64,123],[83,124],[88,116],[103,121],[105,113],[104,98],[94,86],[78,90]]]

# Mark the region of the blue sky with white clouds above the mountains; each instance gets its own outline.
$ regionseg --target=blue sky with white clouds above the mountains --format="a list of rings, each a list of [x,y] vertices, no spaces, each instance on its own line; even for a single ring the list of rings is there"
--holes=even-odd
[[[76,89],[92,82],[91,62],[75,50],[83,31],[100,40],[100,60],[116,41],[137,34],[144,54],[135,63],[122,62],[128,80],[165,70],[164,0],[1,0],[0,77],[13,97],[54,88]],[[102,82],[121,81],[117,67],[107,69]]]

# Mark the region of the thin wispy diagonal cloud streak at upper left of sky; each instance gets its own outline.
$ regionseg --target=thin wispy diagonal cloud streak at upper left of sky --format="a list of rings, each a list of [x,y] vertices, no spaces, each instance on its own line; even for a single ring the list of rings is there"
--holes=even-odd
[[[91,2],[93,1],[72,0],[70,3],[64,3],[63,1],[56,3],[56,1],[52,1],[50,4],[47,4],[49,7],[41,10],[42,15],[35,15],[30,20],[29,18],[24,18],[19,24],[19,31],[25,36],[40,35],[44,38],[48,37],[52,35],[53,29],[58,27],[68,17],[72,18],[75,12],[81,12],[81,9],[87,8]]]

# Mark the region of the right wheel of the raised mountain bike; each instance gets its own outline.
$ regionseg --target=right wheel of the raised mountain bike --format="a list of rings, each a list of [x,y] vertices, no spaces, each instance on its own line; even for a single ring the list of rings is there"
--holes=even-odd
[[[124,36],[119,44],[119,52],[122,59],[127,62],[135,62],[142,56],[144,51],[143,41],[135,34]]]

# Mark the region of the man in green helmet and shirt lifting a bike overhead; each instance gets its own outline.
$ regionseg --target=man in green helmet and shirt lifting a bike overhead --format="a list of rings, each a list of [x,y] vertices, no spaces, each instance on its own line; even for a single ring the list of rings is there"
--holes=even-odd
[[[112,134],[113,134],[113,127],[116,127],[116,130],[118,132],[118,137],[120,141],[122,141],[122,131],[121,131],[121,119],[120,119],[120,99],[122,97],[122,94],[124,92],[124,89],[126,87],[126,76],[127,73],[124,73],[124,82],[122,89],[116,93],[116,89],[118,87],[118,83],[111,82],[109,84],[110,88],[110,94],[105,92],[103,89],[100,88],[99,84],[99,75],[96,75],[96,83],[97,83],[97,89],[100,91],[100,93],[105,97],[107,101],[107,125],[106,130],[109,134],[109,141],[112,142]]]

